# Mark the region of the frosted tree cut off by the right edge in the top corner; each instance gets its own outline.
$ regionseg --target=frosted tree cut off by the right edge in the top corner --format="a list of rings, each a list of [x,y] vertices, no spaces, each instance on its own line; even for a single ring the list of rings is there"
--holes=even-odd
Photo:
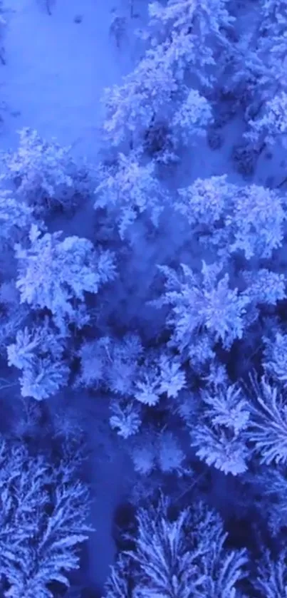
[[[286,4],[282,0],[261,0],[256,29],[241,42],[241,68],[234,65],[234,81],[250,87],[246,139],[261,151],[266,143],[286,145]],[[245,41],[245,48],[244,48]],[[240,44],[239,44],[240,46]],[[249,76],[247,76],[249,73]],[[244,85],[245,82],[245,85]]]

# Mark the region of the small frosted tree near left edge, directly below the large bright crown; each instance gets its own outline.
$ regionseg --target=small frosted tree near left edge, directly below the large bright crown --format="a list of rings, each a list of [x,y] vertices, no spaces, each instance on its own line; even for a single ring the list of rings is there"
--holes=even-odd
[[[40,328],[26,327],[16,334],[16,342],[7,347],[8,364],[22,372],[19,379],[22,396],[37,401],[55,394],[66,386],[70,370],[63,361],[63,338],[49,325],[48,318]]]

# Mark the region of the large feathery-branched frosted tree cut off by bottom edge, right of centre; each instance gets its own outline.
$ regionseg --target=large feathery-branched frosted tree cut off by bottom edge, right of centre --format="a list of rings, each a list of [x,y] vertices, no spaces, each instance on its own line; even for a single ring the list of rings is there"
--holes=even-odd
[[[107,598],[125,597],[125,572],[134,573],[138,598],[231,598],[244,577],[245,550],[227,550],[220,517],[202,503],[171,519],[169,502],[137,512],[135,550],[125,567],[113,568]],[[113,589],[112,589],[113,588]]]

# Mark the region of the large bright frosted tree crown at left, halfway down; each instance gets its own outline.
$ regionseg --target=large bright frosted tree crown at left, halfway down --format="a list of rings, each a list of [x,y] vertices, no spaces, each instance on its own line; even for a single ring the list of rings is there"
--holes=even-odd
[[[115,264],[110,252],[97,252],[93,243],[61,232],[41,232],[32,225],[30,247],[15,245],[18,260],[16,287],[21,303],[32,309],[49,309],[61,331],[74,321],[76,311],[85,301],[85,292],[98,293],[99,287],[113,280]]]

